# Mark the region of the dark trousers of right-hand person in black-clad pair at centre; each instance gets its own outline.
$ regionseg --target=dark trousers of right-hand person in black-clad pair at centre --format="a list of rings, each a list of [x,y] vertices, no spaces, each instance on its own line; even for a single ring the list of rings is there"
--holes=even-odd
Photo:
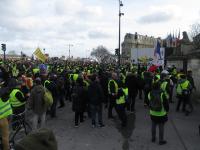
[[[96,114],[98,115],[99,124],[103,124],[102,121],[102,105],[90,105],[92,124],[96,125]]]

